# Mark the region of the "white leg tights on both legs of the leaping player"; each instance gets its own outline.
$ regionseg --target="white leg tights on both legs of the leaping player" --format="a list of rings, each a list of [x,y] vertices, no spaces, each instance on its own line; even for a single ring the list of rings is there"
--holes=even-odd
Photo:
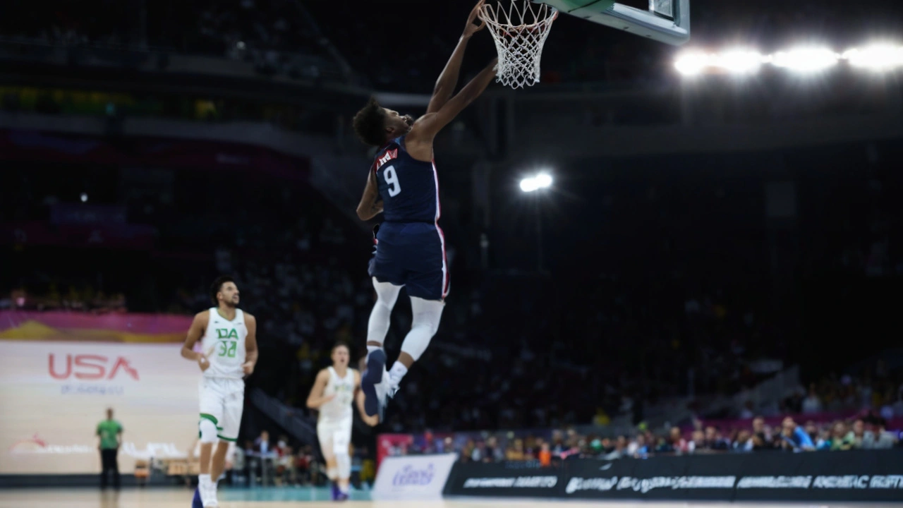
[[[373,287],[377,290],[377,303],[370,313],[370,321],[367,331],[368,343],[382,344],[386,340],[389,331],[389,316],[398,299],[400,286],[393,286],[388,282],[378,282],[373,278]],[[445,304],[437,300],[424,300],[411,296],[411,331],[405,336],[405,342],[401,344],[402,353],[408,353],[414,362],[420,359],[430,345],[433,335],[439,330],[439,322],[442,320],[442,309]]]

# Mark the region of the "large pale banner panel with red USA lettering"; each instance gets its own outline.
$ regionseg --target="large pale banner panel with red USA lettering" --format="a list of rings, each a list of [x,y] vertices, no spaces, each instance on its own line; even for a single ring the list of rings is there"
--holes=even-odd
[[[107,408],[124,428],[123,472],[136,459],[185,458],[198,381],[179,344],[0,341],[0,475],[98,472]]]

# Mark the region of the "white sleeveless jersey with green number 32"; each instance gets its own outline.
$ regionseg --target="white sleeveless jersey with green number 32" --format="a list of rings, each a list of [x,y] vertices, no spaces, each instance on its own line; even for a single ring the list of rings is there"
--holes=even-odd
[[[245,377],[241,365],[245,362],[245,338],[247,325],[245,313],[236,309],[235,319],[229,321],[219,315],[217,307],[209,310],[207,332],[200,340],[201,353],[207,355],[209,368],[204,371],[208,378],[229,378],[240,380]]]

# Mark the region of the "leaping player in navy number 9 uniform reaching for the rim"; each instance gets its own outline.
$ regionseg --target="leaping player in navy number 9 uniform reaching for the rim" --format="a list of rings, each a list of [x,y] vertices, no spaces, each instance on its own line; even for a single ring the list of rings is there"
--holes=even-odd
[[[495,59],[452,97],[461,60],[470,37],[486,24],[474,24],[482,1],[470,12],[461,40],[436,81],[426,114],[400,116],[382,108],[376,99],[358,111],[354,129],[360,139],[378,146],[377,155],[358,204],[358,217],[368,221],[379,212],[385,221],[377,228],[376,252],[369,275],[377,292],[367,335],[367,371],[361,380],[368,416],[382,419],[386,397],[395,393],[411,365],[426,351],[439,329],[449,273],[445,239],[439,228],[439,179],[433,162],[433,137],[461,113],[496,77]],[[413,321],[398,361],[386,372],[383,342],[389,315],[401,287],[411,298]]]

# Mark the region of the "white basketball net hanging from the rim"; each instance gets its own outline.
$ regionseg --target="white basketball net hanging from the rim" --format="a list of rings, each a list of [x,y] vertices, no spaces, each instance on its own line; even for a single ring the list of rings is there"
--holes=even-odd
[[[496,80],[512,89],[539,82],[539,61],[545,38],[558,16],[554,7],[530,0],[501,0],[501,5],[484,4],[479,12],[486,21],[498,51]]]

